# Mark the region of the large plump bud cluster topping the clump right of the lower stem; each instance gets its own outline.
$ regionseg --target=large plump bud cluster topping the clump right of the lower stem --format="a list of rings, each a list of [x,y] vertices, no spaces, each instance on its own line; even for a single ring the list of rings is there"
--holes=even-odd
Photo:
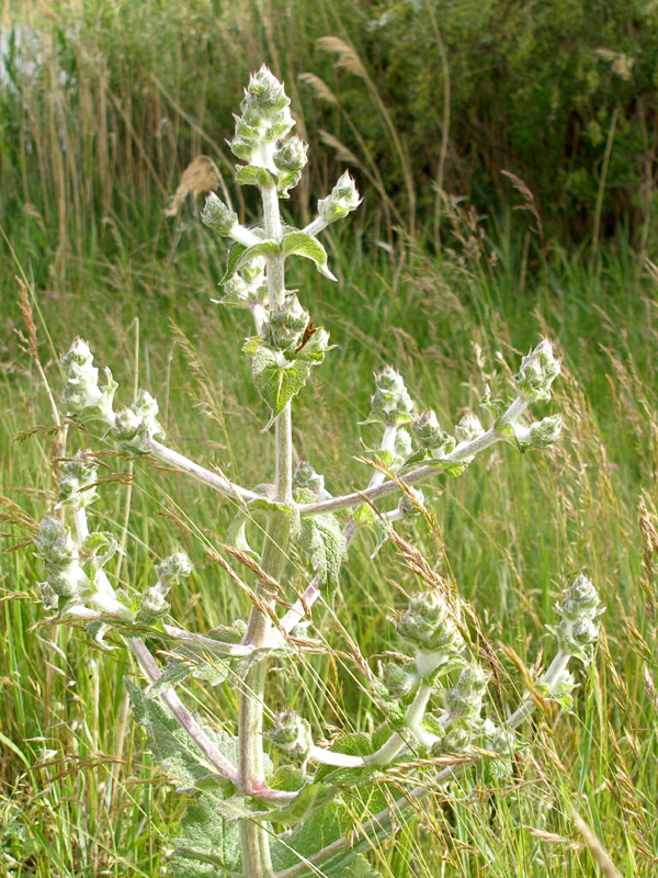
[[[466,645],[439,592],[426,592],[411,598],[396,622],[396,630],[416,648],[416,667],[420,676],[434,673]]]

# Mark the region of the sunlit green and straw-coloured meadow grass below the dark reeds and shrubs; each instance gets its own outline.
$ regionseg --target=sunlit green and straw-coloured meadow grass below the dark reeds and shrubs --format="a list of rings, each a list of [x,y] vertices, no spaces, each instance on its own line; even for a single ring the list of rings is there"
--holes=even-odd
[[[122,289],[112,274],[78,264],[75,284],[37,299],[39,353],[50,359],[45,328],[58,350],[83,333],[98,359],[116,368],[123,399],[132,397],[137,365],[140,383],[160,399],[171,444],[251,485],[269,477],[271,449],[262,451],[269,446],[259,432],[263,412],[239,353],[240,331],[248,328],[207,302],[218,256],[208,254],[211,241],[202,235],[195,227],[184,233],[180,259],[170,264],[133,256]],[[577,571],[588,572],[608,607],[598,660],[580,674],[574,716],[551,712],[533,727],[517,785],[494,795],[491,779],[481,777],[462,803],[434,800],[405,845],[378,849],[379,868],[395,878],[429,876],[439,859],[446,876],[538,876],[546,868],[593,876],[597,866],[571,819],[576,810],[622,875],[649,876],[657,856],[655,570],[650,552],[643,561],[638,503],[644,496],[651,510],[656,500],[650,278],[629,256],[611,254],[591,272],[587,260],[555,254],[547,281],[519,296],[513,261],[501,259],[491,269],[483,260],[436,262],[417,252],[392,271],[372,244],[363,246],[365,260],[358,263],[350,241],[337,244],[338,289],[304,275],[311,314],[339,347],[295,406],[297,452],[319,471],[338,473],[329,482],[334,493],[362,484],[366,472],[352,458],[361,453],[356,421],[367,409],[373,369],[394,362],[419,404],[434,406],[447,426],[476,405],[485,382],[503,392],[507,364],[548,333],[565,356],[551,407],[565,415],[564,442],[547,454],[497,450],[461,479],[438,480],[430,489],[438,527],[407,526],[405,536],[455,578],[495,648],[511,646],[529,666],[542,649],[549,658],[545,626]],[[146,279],[157,294],[139,295]],[[11,306],[8,312],[11,322]],[[47,373],[56,387],[53,361]],[[53,486],[44,429],[15,441],[22,430],[49,423],[45,393],[15,339],[5,351],[0,394],[1,493],[12,545],[29,540]],[[90,442],[99,444],[71,432],[71,448]],[[128,466],[112,455],[105,464],[109,475]],[[125,484],[115,481],[99,504],[104,526],[115,532],[126,498]],[[211,623],[243,615],[243,601],[203,551],[222,540],[229,518],[215,495],[137,462],[121,579],[139,590],[155,558],[182,544],[196,574],[192,595],[178,595],[179,618],[201,626],[204,615]],[[365,656],[395,648],[383,621],[385,608],[399,605],[389,578],[407,589],[415,583],[390,545],[374,564],[371,548],[364,537],[345,570],[337,607],[344,628],[330,616],[319,626],[334,653],[276,686],[277,703],[295,691],[319,730],[378,721],[342,656],[350,640]],[[100,655],[69,626],[41,626],[31,552],[3,558],[4,868],[16,876],[158,874],[180,806],[158,780],[126,712],[122,678],[131,668],[118,651]],[[506,669],[501,697],[511,706],[522,684],[510,656],[498,654]],[[230,728],[232,690],[195,690],[193,697]],[[20,865],[12,867],[12,857]]]

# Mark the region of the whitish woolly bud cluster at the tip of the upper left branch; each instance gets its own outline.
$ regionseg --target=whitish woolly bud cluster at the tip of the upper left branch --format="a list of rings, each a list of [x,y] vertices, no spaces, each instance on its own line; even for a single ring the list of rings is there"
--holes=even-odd
[[[66,376],[61,398],[67,413],[80,424],[88,420],[112,424],[112,399],[117,385],[112,372],[105,369],[105,386],[99,386],[99,370],[87,341],[76,338],[70,350],[63,354],[60,364]]]

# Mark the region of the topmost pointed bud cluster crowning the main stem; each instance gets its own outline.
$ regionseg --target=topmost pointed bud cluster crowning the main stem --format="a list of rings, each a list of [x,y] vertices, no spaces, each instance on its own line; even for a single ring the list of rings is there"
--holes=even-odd
[[[266,167],[265,147],[275,144],[295,124],[283,85],[263,65],[252,74],[240,104],[241,115],[236,116],[236,133],[229,146],[242,161]]]

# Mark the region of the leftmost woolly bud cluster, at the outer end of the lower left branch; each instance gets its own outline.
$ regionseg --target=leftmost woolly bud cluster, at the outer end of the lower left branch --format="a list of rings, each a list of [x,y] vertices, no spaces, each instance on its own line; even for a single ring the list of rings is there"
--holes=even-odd
[[[89,589],[71,532],[57,518],[42,520],[34,544],[46,570],[46,581],[39,583],[44,609],[58,609],[60,598],[68,603]]]

